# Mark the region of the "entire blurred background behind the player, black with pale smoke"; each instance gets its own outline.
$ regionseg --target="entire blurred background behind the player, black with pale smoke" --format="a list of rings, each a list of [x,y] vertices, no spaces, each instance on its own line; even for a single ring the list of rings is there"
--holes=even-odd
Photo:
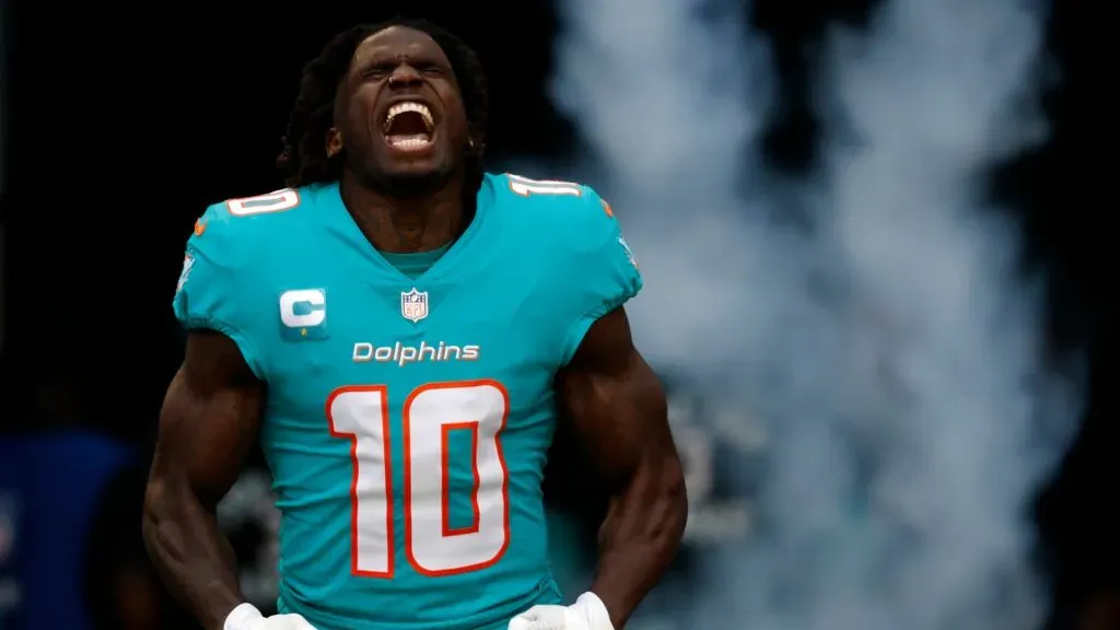
[[[491,169],[595,186],[646,278],[691,511],[631,628],[1120,628],[1105,2],[446,4]],[[400,8],[0,3],[3,630],[192,628],[140,539],[183,245]],[[552,466],[576,593],[603,503]],[[263,609],[269,484],[221,511]]]

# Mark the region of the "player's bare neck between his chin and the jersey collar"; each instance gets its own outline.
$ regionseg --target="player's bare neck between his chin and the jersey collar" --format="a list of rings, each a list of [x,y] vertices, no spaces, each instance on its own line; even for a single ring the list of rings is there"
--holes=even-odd
[[[348,169],[339,192],[346,210],[380,251],[412,253],[439,249],[465,228],[463,178],[451,177],[430,195],[400,198],[365,185]]]

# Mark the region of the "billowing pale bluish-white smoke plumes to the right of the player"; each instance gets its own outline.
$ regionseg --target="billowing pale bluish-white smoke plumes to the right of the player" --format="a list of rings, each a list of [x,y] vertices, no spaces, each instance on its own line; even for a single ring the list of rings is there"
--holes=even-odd
[[[768,432],[759,527],[685,627],[1036,624],[1027,507],[1079,409],[983,178],[1045,136],[1045,16],[887,0],[836,33],[821,167],[794,180],[756,157],[772,71],[739,7],[559,4],[554,96],[642,265],[638,344]]]

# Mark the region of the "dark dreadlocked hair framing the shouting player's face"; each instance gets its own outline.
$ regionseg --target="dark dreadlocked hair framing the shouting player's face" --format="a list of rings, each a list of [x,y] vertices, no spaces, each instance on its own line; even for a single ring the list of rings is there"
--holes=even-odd
[[[291,108],[288,128],[283,135],[283,149],[277,157],[277,168],[291,187],[318,182],[335,182],[342,176],[345,150],[327,156],[327,130],[334,124],[335,95],[338,83],[349,68],[354,50],[367,37],[392,26],[411,28],[427,34],[442,48],[455,73],[467,114],[472,145],[466,149],[466,182],[464,198],[474,205],[475,194],[483,180],[486,122],[489,115],[489,95],[486,75],[478,55],[450,31],[423,19],[395,17],[390,20],[355,26],[345,30],[323,49],[318,57],[304,66],[299,95]]]

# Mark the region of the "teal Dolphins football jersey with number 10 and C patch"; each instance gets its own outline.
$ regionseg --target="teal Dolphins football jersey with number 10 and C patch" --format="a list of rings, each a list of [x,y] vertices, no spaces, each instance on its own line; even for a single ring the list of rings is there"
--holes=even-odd
[[[642,287],[610,206],[487,175],[410,279],[337,184],[207,209],[175,297],[268,383],[280,609],[320,630],[505,628],[557,603],[541,479],[553,377]]]

